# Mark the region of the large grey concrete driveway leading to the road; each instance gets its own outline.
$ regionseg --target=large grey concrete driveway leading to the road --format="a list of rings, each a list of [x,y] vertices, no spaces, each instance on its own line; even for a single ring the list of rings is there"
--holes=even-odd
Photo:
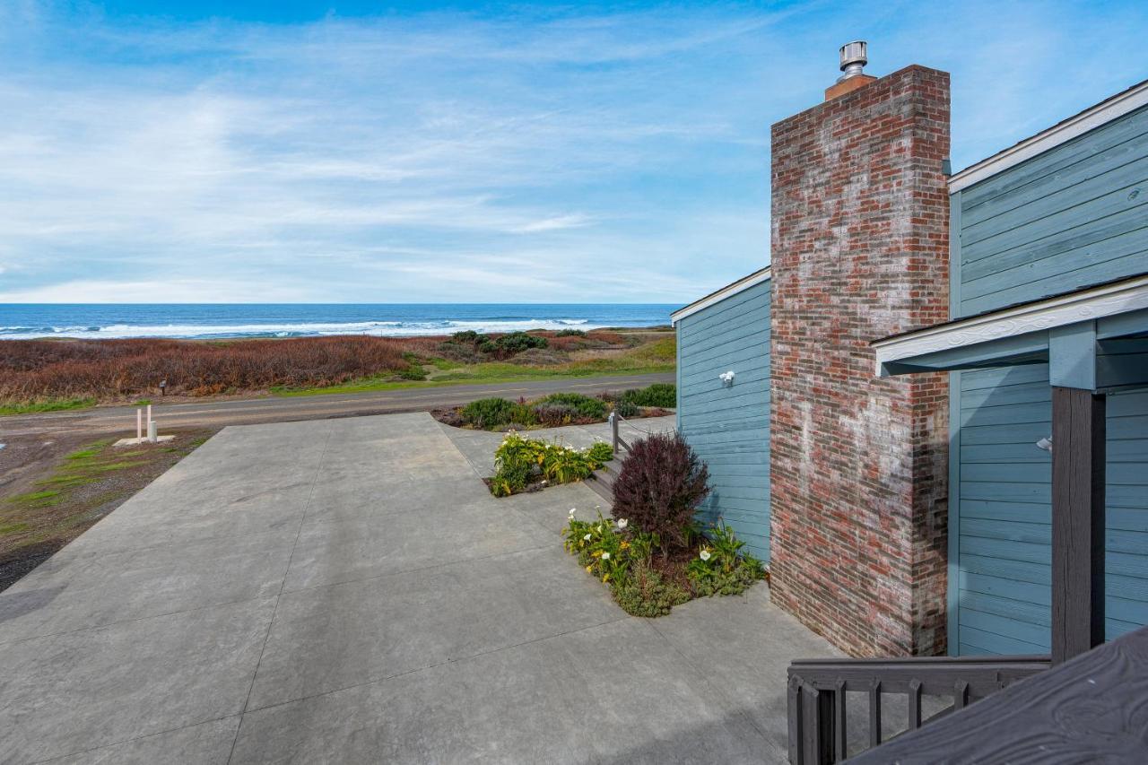
[[[0,762],[784,762],[768,603],[626,616],[428,415],[231,427],[0,595]],[[55,759],[59,758],[59,759]]]

